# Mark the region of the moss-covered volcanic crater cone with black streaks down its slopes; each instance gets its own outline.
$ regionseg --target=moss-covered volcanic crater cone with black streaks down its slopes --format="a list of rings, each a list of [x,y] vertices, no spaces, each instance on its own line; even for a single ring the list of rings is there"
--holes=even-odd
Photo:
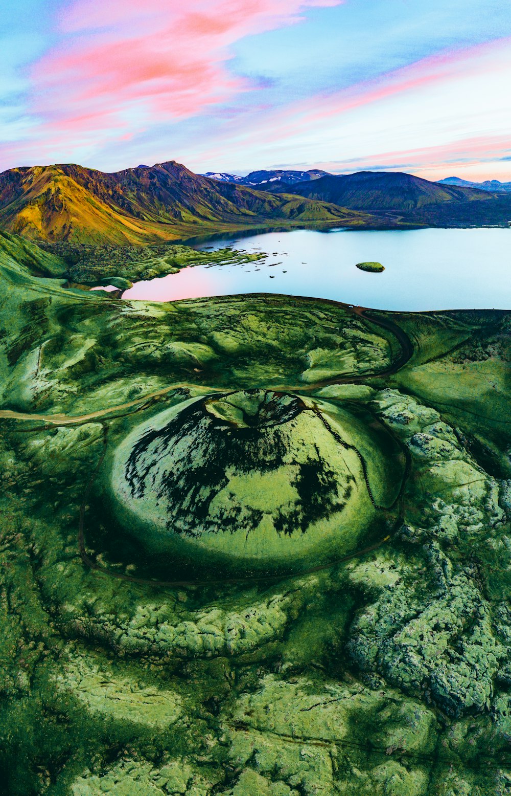
[[[114,453],[118,519],[192,568],[300,571],[351,552],[375,509],[358,432],[329,407],[246,390],[159,413]]]

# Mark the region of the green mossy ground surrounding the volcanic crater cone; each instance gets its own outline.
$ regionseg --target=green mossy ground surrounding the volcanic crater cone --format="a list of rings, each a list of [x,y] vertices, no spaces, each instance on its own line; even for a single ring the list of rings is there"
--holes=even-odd
[[[119,302],[9,246],[0,793],[509,793],[510,314]],[[393,325],[413,344],[396,372]],[[151,583],[94,491],[110,455],[169,408],[261,388],[349,425],[375,503],[396,505],[316,572]],[[250,425],[242,408],[212,406]]]

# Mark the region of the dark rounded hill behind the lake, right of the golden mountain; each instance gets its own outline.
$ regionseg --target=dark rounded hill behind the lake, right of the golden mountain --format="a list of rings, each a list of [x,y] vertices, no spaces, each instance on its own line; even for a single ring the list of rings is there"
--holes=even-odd
[[[275,192],[279,192],[279,188]],[[440,185],[403,172],[359,171],[329,175],[292,186],[292,193],[368,213],[407,212],[426,205],[487,201],[491,193]]]

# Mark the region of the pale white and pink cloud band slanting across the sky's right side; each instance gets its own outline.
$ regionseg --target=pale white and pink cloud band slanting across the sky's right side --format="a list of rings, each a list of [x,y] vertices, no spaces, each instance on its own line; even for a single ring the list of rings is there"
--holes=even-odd
[[[511,39],[449,49],[377,80],[245,118],[231,130],[229,156],[250,150],[258,167],[261,150],[261,158],[273,151],[273,163],[275,155],[285,162],[293,151],[304,165],[319,165],[332,162],[335,152],[338,171],[385,162],[423,171],[457,160],[494,162],[509,150],[509,84]],[[221,147],[210,144],[196,156],[228,167]]]

